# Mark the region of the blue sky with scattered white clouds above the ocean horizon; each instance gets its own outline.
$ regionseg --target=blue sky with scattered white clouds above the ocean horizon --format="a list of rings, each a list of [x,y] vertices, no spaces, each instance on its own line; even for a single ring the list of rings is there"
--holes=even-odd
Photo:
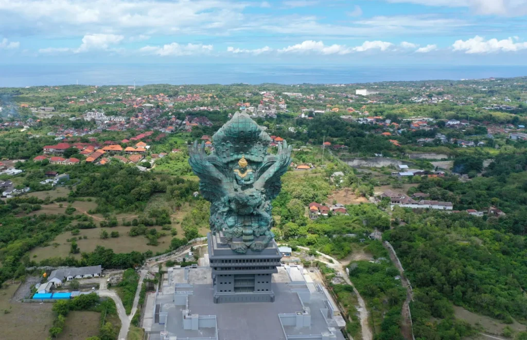
[[[527,0],[0,0],[0,63],[525,65]]]

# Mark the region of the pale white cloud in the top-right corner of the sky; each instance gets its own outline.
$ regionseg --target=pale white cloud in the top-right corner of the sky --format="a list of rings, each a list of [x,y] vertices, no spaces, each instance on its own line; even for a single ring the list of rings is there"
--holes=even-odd
[[[412,3],[426,6],[469,7],[480,15],[522,16],[527,14],[525,0],[387,0],[392,3]]]

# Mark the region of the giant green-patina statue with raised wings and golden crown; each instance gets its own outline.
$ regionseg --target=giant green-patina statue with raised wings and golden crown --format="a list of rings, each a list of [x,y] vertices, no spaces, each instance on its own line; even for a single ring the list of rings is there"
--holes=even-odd
[[[246,113],[236,113],[214,136],[214,151],[194,142],[189,163],[200,178],[200,191],[210,206],[210,229],[222,232],[237,253],[261,251],[274,238],[271,200],[280,192],[280,176],[291,164],[291,147],[278,144],[268,154],[271,138]]]

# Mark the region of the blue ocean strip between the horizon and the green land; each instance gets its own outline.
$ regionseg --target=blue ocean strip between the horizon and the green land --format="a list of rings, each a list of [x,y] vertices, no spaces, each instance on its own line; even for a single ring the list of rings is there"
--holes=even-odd
[[[271,64],[0,65],[0,87],[146,84],[350,84],[527,76],[527,66]]]

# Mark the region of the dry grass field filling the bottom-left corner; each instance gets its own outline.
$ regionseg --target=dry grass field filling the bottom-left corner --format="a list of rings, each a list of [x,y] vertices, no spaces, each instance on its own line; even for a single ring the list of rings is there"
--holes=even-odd
[[[11,302],[9,300],[16,288],[18,284],[11,284],[0,289],[0,314],[2,315],[0,317],[0,338],[2,340],[45,339],[53,323],[52,304]]]

